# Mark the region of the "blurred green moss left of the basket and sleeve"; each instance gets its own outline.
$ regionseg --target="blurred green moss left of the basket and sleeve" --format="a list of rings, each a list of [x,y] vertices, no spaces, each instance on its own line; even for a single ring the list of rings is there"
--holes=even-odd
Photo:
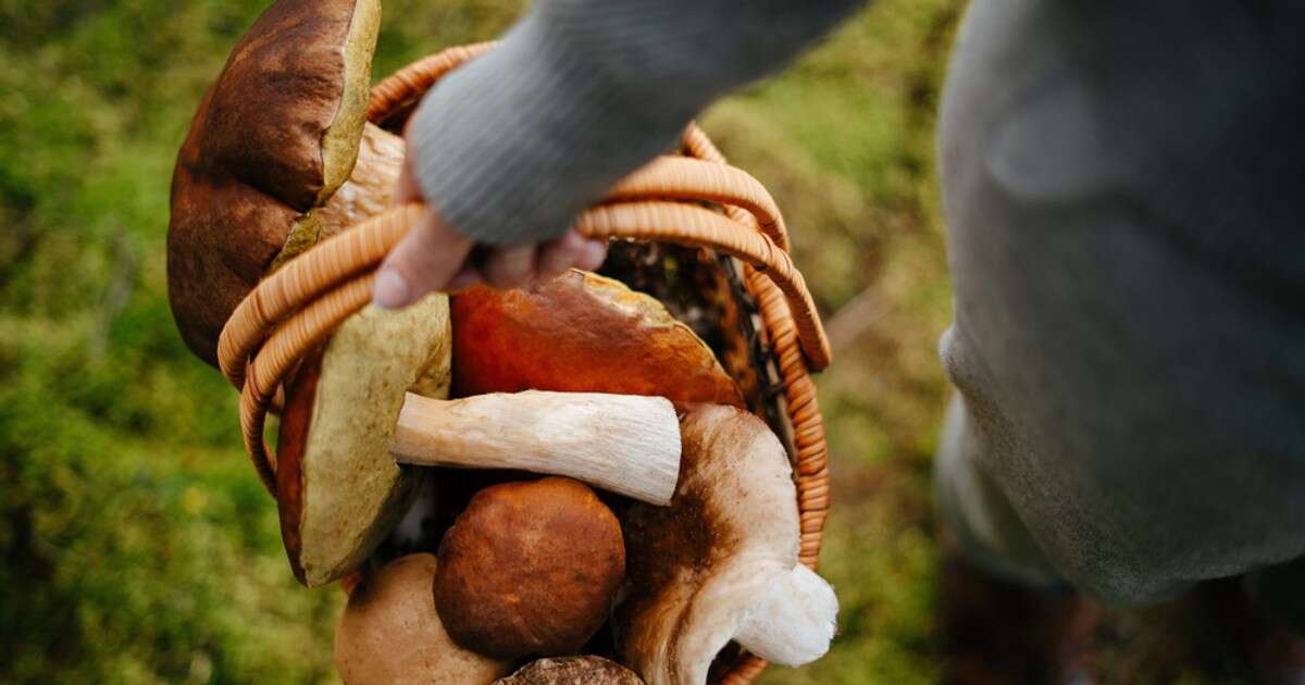
[[[513,3],[388,3],[378,69]],[[265,3],[0,1],[0,681],[335,680],[236,395],[167,305],[176,149]]]

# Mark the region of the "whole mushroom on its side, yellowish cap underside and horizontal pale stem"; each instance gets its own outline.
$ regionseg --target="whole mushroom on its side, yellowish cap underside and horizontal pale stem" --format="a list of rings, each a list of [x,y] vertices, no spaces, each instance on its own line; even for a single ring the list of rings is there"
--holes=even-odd
[[[438,312],[420,304],[397,313],[364,309],[290,384],[277,500],[286,552],[304,585],[358,568],[394,528],[420,474],[398,462],[568,475],[652,504],[671,500],[680,431],[669,401],[543,391],[440,401],[408,393],[423,373],[448,368],[441,324]]]

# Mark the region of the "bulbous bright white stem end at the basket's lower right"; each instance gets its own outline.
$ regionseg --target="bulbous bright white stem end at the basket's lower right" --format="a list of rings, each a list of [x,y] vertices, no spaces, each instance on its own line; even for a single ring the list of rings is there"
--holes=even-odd
[[[803,665],[825,656],[838,629],[838,598],[816,571],[796,566],[748,608],[735,642],[767,662]]]

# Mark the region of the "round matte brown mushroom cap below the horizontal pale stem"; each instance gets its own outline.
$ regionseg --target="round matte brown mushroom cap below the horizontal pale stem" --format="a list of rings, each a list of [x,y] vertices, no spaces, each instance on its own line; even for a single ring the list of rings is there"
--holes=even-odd
[[[453,639],[499,659],[574,654],[625,575],[621,526],[594,491],[545,478],[485,488],[440,543],[435,603]]]

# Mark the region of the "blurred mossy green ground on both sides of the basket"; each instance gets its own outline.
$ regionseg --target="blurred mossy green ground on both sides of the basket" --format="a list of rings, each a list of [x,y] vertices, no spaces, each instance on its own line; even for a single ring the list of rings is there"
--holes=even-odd
[[[176,149],[264,7],[0,0],[0,682],[335,680],[342,594],[291,577],[236,393],[183,347],[166,297]],[[518,12],[390,0],[375,74]],[[928,470],[950,299],[932,130],[959,12],[881,0],[702,119],[779,200],[838,350],[820,385],[842,632],[769,682],[936,676]]]

